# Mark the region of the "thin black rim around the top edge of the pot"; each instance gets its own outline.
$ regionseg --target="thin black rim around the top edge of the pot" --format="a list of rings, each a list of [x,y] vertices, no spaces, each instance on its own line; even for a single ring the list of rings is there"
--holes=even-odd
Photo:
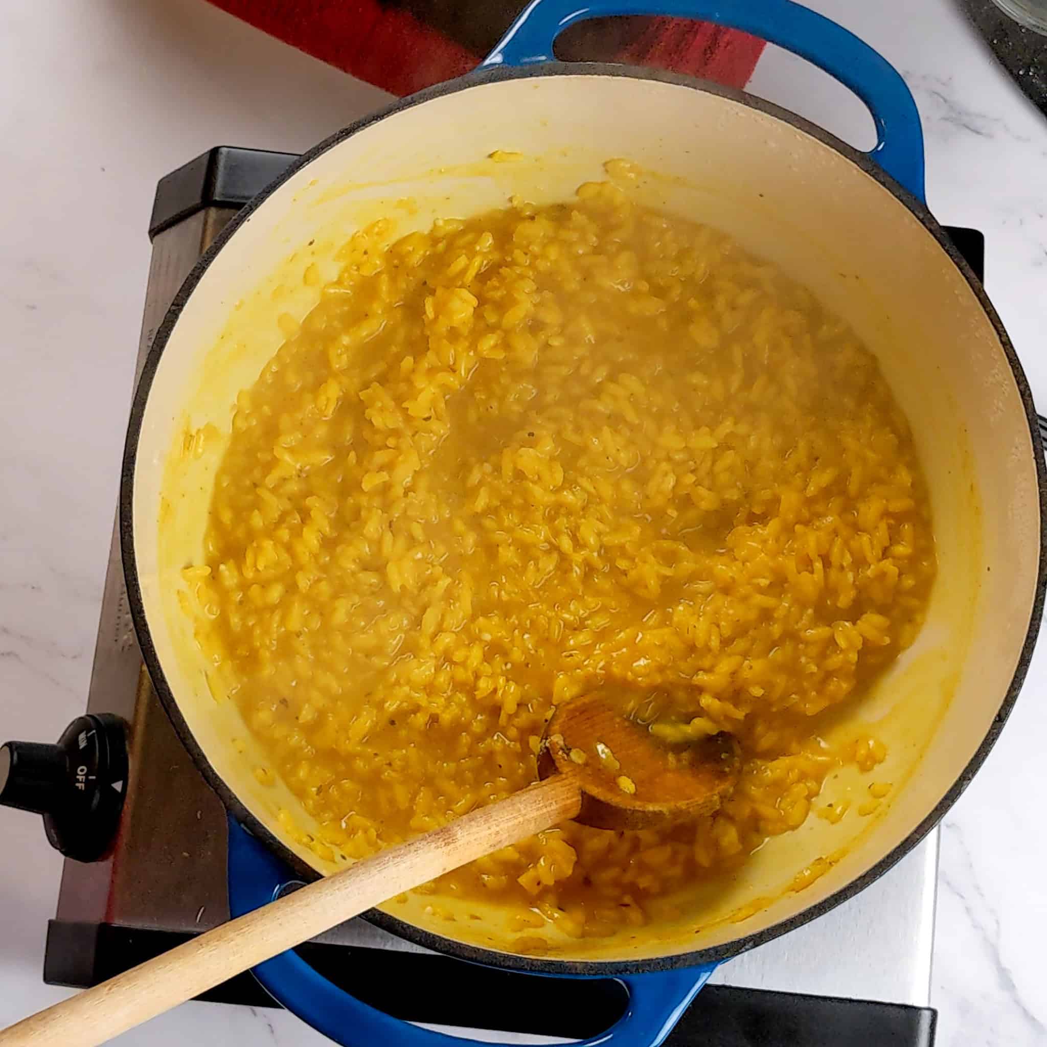
[[[836,891],[828,897],[816,903],[802,912],[797,913],[795,916],[790,916],[752,934],[742,935],[741,937],[725,942],[721,945],[709,949],[698,949],[692,952],[676,953],[671,956],[637,960],[581,961],[518,956],[513,953],[505,953],[498,950],[469,945],[450,938],[445,938],[442,935],[422,930],[421,928],[407,923],[404,920],[388,915],[387,913],[379,912],[378,910],[371,910],[364,914],[364,918],[372,923],[375,923],[401,938],[416,942],[419,945],[424,945],[425,948],[431,949],[436,952],[446,953],[448,955],[459,957],[460,959],[502,967],[509,971],[607,977],[617,974],[665,971],[674,967],[713,963],[730,959],[732,956],[737,956],[739,953],[743,953],[756,945],[771,941],[773,938],[777,938],[780,935],[785,934],[787,931],[792,931],[795,928],[809,922],[816,917],[821,916],[823,913],[828,912],[830,909],[834,909],[841,903],[846,901],[848,898],[855,895],[863,888],[867,887],[892,868],[901,857],[909,853],[909,851],[911,851],[935,825],[937,825],[937,823],[944,816],[945,811],[949,810],[949,808],[959,798],[960,794],[966,788],[975,773],[984,762],[985,757],[995,744],[996,739],[999,737],[1000,731],[1013,708],[1015,700],[1018,697],[1018,692],[1021,689],[1022,682],[1025,680],[1029,661],[1032,656],[1032,650],[1035,645],[1037,633],[1040,628],[1040,618],[1044,605],[1044,589],[1045,585],[1047,585],[1047,574],[1045,574],[1045,572],[1047,572],[1047,547],[1045,547],[1044,540],[1045,518],[1047,518],[1047,467],[1045,467],[1044,464],[1043,446],[1040,438],[1040,429],[1037,424],[1037,413],[1032,403],[1032,394],[1029,391],[1028,382],[1025,379],[1025,374],[1022,371],[1022,366],[1015,353],[1015,349],[1011,346],[1010,340],[1007,337],[1007,333],[1004,331],[1003,325],[1000,322],[1000,318],[997,316],[996,311],[986,297],[977,276],[975,276],[971,267],[953,246],[949,236],[944,232],[937,221],[935,221],[934,217],[928,210],[927,205],[922,201],[916,199],[916,197],[909,193],[908,190],[899,185],[893,178],[882,171],[869,155],[852,149],[850,146],[838,139],[834,135],[829,134],[822,128],[810,124],[808,120],[797,116],[788,110],[782,109],[773,103],[754,97],[743,91],[721,87],[718,84],[699,81],[691,76],[681,75],[678,73],[663,72],[652,69],[637,69],[627,66],[606,65],[602,63],[567,64],[551,62],[538,66],[522,68],[498,66],[472,72],[466,76],[460,77],[459,80],[450,81],[445,84],[439,84],[436,87],[428,88],[418,94],[413,94],[409,97],[392,104],[379,112],[373,113],[354,124],[351,124],[349,127],[320,142],[308,153],[305,153],[298,160],[292,162],[279,178],[271,182],[265,190],[254,197],[253,200],[247,203],[229,221],[222,232],[219,233],[215,242],[201,255],[200,260],[193,267],[193,270],[185,277],[184,283],[175,295],[174,300],[163,318],[163,322],[160,325],[156,333],[156,337],[153,340],[153,344],[142,366],[141,376],[139,378],[134,395],[134,401],[132,403],[131,419],[128,425],[127,443],[124,450],[124,465],[120,476],[120,548],[124,560],[124,572],[127,580],[128,599],[131,605],[131,614],[134,619],[135,630],[138,634],[138,642],[141,646],[142,656],[147,667],[149,668],[154,689],[159,695],[160,701],[163,704],[163,708],[166,710],[168,716],[171,718],[171,721],[174,725],[178,736],[181,738],[182,743],[188,750],[207,783],[219,795],[226,808],[248,831],[265,843],[270,850],[276,853],[282,861],[284,861],[288,867],[293,870],[293,873],[296,876],[300,876],[302,878],[309,881],[318,878],[319,873],[298,859],[293,851],[276,839],[276,837],[273,836],[273,833],[271,833],[259,821],[259,819],[257,819],[247,809],[247,807],[241,802],[241,800],[226,785],[224,780],[210,765],[210,762],[208,761],[203,750],[193,736],[188,725],[185,722],[185,719],[178,708],[178,703],[175,700],[175,697],[171,692],[163,669],[161,668],[159,659],[157,658],[156,649],[153,646],[149,624],[146,621],[146,612],[142,605],[141,589],[138,584],[138,574],[134,551],[134,473],[142,417],[144,415],[146,404],[149,399],[153,379],[156,375],[157,365],[159,363],[160,356],[163,353],[164,346],[171,336],[171,332],[178,320],[186,299],[196,288],[197,284],[200,283],[211,262],[215,260],[216,254],[222,249],[222,246],[231,236],[236,233],[237,229],[239,229],[240,226],[251,217],[262,202],[266,200],[274,190],[281,186],[303,168],[307,166],[312,160],[316,159],[316,157],[344,141],[357,132],[370,127],[372,124],[384,119],[386,116],[392,116],[402,110],[423,105],[426,102],[442,97],[443,95],[452,94],[458,91],[467,91],[472,88],[483,87],[486,84],[496,83],[499,81],[522,80],[532,76],[561,75],[622,76],[633,80],[653,80],[729,98],[732,102],[740,103],[751,109],[756,109],[771,116],[775,116],[778,119],[784,120],[785,122],[790,124],[803,131],[810,137],[817,139],[822,144],[834,149],[856,166],[861,168],[867,175],[874,178],[886,190],[892,193],[894,197],[898,199],[922,223],[923,227],[937,241],[941,249],[950,258],[957,269],[959,269],[963,274],[971,287],[971,290],[974,292],[979,304],[981,305],[981,308],[988,316],[993,328],[1000,339],[1000,344],[1003,348],[1004,355],[1007,358],[1011,374],[1013,375],[1015,383],[1018,386],[1022,404],[1025,407],[1026,419],[1029,425],[1029,438],[1031,440],[1032,452],[1035,459],[1037,478],[1040,490],[1040,556],[1037,571],[1035,596],[1031,614],[1029,616],[1029,626],[1025,636],[1025,642],[1022,645],[1018,665],[1015,669],[1013,678],[1011,680],[1010,686],[1007,688],[1007,693],[1004,695],[1003,700],[1000,704],[1000,708],[997,711],[996,717],[994,718],[985,738],[982,740],[977,752],[963,768],[956,782],[949,788],[930,814],[928,814],[928,816],[909,833],[909,836],[866,872],[850,881],[847,885],[840,888],[840,890]]]

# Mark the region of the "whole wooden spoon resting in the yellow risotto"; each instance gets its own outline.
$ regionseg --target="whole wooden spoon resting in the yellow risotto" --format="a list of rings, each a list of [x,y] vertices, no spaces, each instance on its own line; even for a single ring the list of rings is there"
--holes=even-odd
[[[586,753],[584,762],[572,757],[575,750]],[[609,759],[600,758],[603,751]],[[104,1043],[402,891],[569,819],[615,829],[711,814],[734,787],[739,762],[728,735],[699,742],[681,761],[678,751],[599,693],[575,698],[549,721],[538,761],[542,781],[23,1019],[0,1032],[0,1047]]]

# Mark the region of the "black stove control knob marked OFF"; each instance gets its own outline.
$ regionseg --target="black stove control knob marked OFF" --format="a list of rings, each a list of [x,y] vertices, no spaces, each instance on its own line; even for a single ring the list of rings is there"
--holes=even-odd
[[[54,745],[0,745],[0,804],[43,815],[51,846],[77,862],[112,846],[127,778],[127,725],[111,713],[77,716]]]

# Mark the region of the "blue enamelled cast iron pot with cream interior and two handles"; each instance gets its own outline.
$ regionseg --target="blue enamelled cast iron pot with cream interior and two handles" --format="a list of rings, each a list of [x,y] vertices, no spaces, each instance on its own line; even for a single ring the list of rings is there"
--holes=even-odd
[[[876,148],[856,152],[790,113],[712,84],[553,60],[553,41],[567,25],[625,14],[709,19],[803,55],[866,103]],[[494,162],[488,157],[495,150],[519,156]],[[406,231],[438,216],[504,205],[517,191],[539,203],[566,199],[580,182],[602,177],[603,161],[615,157],[649,172],[638,191],[647,202],[726,229],[786,268],[876,354],[913,426],[939,561],[916,644],[841,718],[840,732],[866,723],[888,745],[876,778],[894,787],[874,816],[836,826],[809,818],[772,839],[729,884],[695,888],[675,922],[609,939],[552,935],[541,957],[513,952],[511,936],[498,930],[504,919],[476,904],[454,903],[462,911],[453,922],[427,912],[431,897],[421,896],[369,914],[466,960],[620,978],[630,1003],[608,1034],[646,1047],[664,1039],[718,962],[839,905],[936,824],[995,741],[1039,627],[1044,468],[1029,389],[978,281],[923,203],[919,118],[894,69],[845,29],[787,0],[599,0],[588,7],[534,0],[477,72],[317,146],[201,259],[142,372],[120,528],[156,692],[230,814],[237,914],[333,865],[288,833],[289,817],[307,822],[291,794],[279,783],[264,788],[252,775],[261,754],[252,753],[235,704],[223,700],[179,606],[180,569],[200,562],[236,396],[283,340],[280,317],[300,317],[315,305],[305,269],[331,270],[352,229],[397,214]],[[395,205],[406,197],[413,213]],[[196,433],[201,439],[187,439]],[[867,784],[844,773],[824,798]],[[790,890],[817,857],[830,859],[828,871]],[[255,973],[289,1009],[343,1044],[447,1039],[360,1004],[294,954]],[[606,1043],[608,1034],[589,1043]]]

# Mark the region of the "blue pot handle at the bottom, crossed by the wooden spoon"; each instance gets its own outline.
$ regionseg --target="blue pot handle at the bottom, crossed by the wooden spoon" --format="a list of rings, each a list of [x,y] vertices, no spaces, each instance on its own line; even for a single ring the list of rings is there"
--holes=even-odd
[[[229,819],[229,912],[241,916],[272,901],[295,877],[239,822]],[[716,964],[621,981],[629,994],[625,1013],[606,1032],[578,1047],[658,1047]],[[293,952],[259,964],[254,977],[277,1003],[342,1047],[474,1047],[475,1041],[423,1029],[361,1003],[318,975]],[[556,977],[529,975],[528,977]]]

